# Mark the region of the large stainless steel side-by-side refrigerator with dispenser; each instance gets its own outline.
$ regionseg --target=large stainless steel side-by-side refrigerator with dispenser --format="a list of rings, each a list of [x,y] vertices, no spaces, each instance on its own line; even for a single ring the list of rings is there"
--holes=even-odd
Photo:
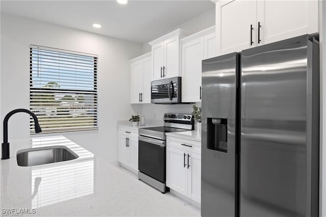
[[[202,216],[318,216],[319,45],[202,61]]]

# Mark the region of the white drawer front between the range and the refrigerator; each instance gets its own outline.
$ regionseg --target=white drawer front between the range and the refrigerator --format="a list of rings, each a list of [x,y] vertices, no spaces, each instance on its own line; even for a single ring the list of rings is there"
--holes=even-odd
[[[193,140],[185,140],[167,136],[167,146],[182,149],[189,152],[201,153],[201,143]]]

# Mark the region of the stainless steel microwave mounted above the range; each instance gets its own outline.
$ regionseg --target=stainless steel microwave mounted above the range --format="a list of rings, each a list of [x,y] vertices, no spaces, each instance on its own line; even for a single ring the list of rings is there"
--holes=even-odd
[[[171,77],[151,82],[151,103],[181,103],[181,77]]]

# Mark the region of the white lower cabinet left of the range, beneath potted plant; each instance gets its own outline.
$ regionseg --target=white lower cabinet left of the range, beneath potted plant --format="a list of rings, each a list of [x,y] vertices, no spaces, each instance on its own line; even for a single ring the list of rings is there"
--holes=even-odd
[[[138,171],[138,131],[119,128],[118,162],[127,169]]]

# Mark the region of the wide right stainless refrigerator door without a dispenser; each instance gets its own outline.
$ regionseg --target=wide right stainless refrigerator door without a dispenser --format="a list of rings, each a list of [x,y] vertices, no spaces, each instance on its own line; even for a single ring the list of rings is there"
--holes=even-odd
[[[240,216],[313,216],[308,37],[241,52]]]

